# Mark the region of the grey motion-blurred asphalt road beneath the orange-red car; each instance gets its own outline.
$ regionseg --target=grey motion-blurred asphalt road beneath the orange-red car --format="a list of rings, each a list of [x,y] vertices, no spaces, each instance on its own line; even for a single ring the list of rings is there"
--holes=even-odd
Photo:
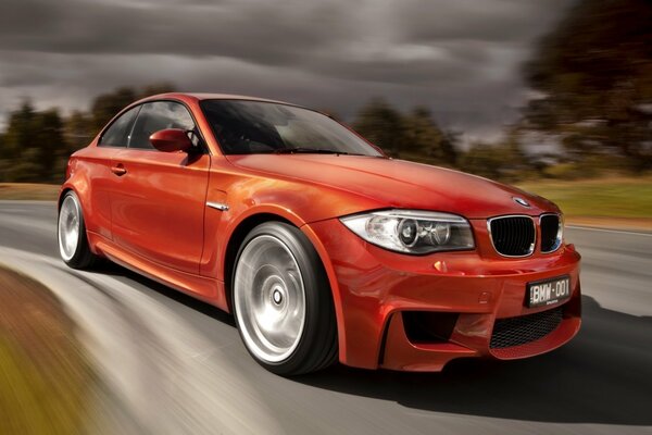
[[[118,266],[67,269],[53,203],[0,202],[0,263],[52,288],[98,368],[90,433],[652,433],[652,235],[567,239],[584,257],[584,324],[562,349],[286,380],[253,362],[221,311]]]

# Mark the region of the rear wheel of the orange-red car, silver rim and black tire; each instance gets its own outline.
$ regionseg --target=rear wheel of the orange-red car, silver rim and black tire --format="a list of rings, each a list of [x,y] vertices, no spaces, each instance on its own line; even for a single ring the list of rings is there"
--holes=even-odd
[[[98,257],[90,251],[86,236],[86,224],[79,199],[68,191],[61,201],[58,221],[59,253],[73,269],[86,269],[93,265]]]

